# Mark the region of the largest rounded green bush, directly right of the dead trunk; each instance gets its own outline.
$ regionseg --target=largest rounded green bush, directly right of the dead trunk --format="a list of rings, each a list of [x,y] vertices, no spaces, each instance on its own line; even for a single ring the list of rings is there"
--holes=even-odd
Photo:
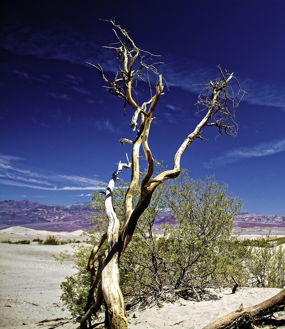
[[[242,200],[228,196],[227,185],[213,176],[194,181],[186,170],[165,184],[165,190],[158,194],[160,199],[154,197],[155,204],[140,218],[122,257],[122,291],[125,295],[173,300],[183,289],[197,294],[197,288],[234,284],[232,275],[240,255],[231,230]],[[173,216],[157,236],[152,232],[152,218],[161,204]]]

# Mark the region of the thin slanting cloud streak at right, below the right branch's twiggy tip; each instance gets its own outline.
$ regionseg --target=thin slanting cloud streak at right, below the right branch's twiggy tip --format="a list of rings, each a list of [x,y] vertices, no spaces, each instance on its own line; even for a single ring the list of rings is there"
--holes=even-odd
[[[217,168],[246,158],[264,157],[283,151],[285,151],[285,139],[275,140],[268,143],[260,143],[253,147],[232,150],[224,156],[213,158],[209,162],[204,162],[203,166],[205,168]]]

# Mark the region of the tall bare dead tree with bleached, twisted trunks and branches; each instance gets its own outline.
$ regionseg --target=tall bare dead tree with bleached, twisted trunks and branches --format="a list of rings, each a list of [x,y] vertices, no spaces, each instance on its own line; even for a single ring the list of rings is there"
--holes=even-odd
[[[133,108],[133,116],[131,118],[131,128],[136,132],[134,140],[121,139],[120,143],[131,144],[131,162],[118,164],[117,170],[112,174],[109,185],[106,189],[105,208],[108,217],[107,241],[108,247],[106,250],[106,257],[102,265],[101,271],[101,286],[104,295],[104,300],[107,307],[109,325],[112,329],[127,328],[128,321],[125,311],[125,303],[122,292],[119,287],[119,262],[130,242],[134,233],[137,221],[148,207],[152,194],[159,184],[162,184],[167,179],[178,177],[180,173],[180,158],[186,148],[195,140],[202,139],[202,129],[204,127],[215,126],[219,133],[223,135],[233,136],[236,134],[237,125],[235,124],[235,109],[239,101],[245,94],[240,88],[237,79],[227,71],[222,71],[220,66],[220,78],[210,81],[209,84],[204,85],[204,89],[198,98],[198,112],[203,112],[202,120],[195,127],[183,141],[174,156],[173,169],[163,171],[154,176],[154,159],[148,145],[149,131],[153,117],[155,106],[159,101],[163,89],[162,76],[157,72],[155,64],[149,63],[151,57],[154,56],[146,51],[142,51],[134,44],[129,37],[128,32],[123,30],[120,25],[116,25],[114,21],[110,21],[113,25],[113,31],[117,38],[117,43],[106,47],[117,53],[119,60],[119,68],[115,74],[114,80],[111,81],[105,76],[102,67],[92,65],[101,75],[105,81],[105,88],[125,102],[125,108],[130,105]],[[154,92],[152,90],[152,83],[150,74],[156,77],[156,86]],[[143,103],[139,103],[134,91],[134,87],[139,80],[144,81],[150,87],[150,97]],[[229,81],[235,82],[237,93],[234,94]],[[136,99],[136,100],[135,100]],[[126,112],[125,112],[126,115]],[[139,150],[142,146],[148,168],[140,186],[140,198],[135,206],[133,206],[133,194],[139,183]],[[122,168],[131,168],[131,183],[125,195],[125,221],[121,232],[119,232],[120,223],[112,206],[112,190],[118,175]],[[100,241],[99,241],[100,242]],[[101,241],[102,242],[102,241]],[[94,249],[98,250],[97,247]],[[93,264],[93,259],[96,252],[90,256],[89,264]],[[99,269],[100,270],[100,269]],[[99,271],[98,270],[98,271]],[[94,276],[94,275],[93,275]],[[95,303],[95,300],[93,301]],[[92,308],[93,306],[91,306]],[[79,319],[84,327],[84,321],[92,313],[92,309],[86,313],[88,315]],[[82,321],[82,319],[84,319]],[[85,324],[86,326],[86,324]]]

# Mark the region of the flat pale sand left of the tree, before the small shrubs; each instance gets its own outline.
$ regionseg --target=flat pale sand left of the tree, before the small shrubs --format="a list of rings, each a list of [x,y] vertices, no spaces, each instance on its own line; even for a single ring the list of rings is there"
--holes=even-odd
[[[69,245],[0,243],[0,328],[18,328],[46,318],[69,316],[61,311],[60,283],[75,273],[71,263],[52,257]]]

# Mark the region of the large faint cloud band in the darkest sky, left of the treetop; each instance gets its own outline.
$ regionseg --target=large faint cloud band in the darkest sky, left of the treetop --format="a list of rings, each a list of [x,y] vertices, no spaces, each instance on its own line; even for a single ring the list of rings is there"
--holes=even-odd
[[[83,65],[87,65],[85,62],[93,63],[96,54],[96,61],[100,60],[108,69],[113,66],[108,58],[111,54],[103,51],[102,45],[96,44],[92,36],[85,36],[70,25],[51,25],[39,30],[38,27],[24,25],[11,17],[3,25],[5,30],[0,44],[14,54],[34,55],[42,59],[63,59]]]

